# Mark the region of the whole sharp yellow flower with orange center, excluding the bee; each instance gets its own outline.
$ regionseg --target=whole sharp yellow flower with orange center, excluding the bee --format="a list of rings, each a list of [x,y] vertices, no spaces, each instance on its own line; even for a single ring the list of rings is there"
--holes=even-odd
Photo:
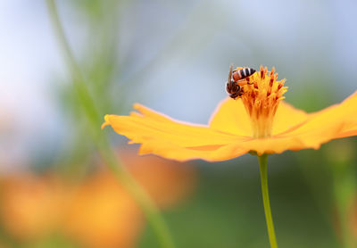
[[[239,69],[239,68],[237,68]],[[282,153],[318,149],[334,138],[357,134],[357,93],[343,103],[306,113],[283,101],[285,79],[263,69],[249,77],[237,100],[223,100],[208,125],[190,124],[134,104],[129,116],[105,115],[130,143],[140,143],[140,154],[154,153],[178,161],[223,161],[245,153]]]

